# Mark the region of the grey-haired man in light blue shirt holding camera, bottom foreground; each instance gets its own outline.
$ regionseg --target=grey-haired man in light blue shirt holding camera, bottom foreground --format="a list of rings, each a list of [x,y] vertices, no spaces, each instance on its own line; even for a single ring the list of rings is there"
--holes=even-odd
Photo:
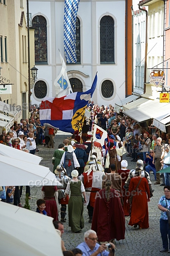
[[[79,244],[77,248],[82,250],[82,256],[114,256],[115,245],[111,244],[110,252],[106,251],[105,244],[97,244],[97,235],[94,230],[88,230],[84,234],[84,242]]]

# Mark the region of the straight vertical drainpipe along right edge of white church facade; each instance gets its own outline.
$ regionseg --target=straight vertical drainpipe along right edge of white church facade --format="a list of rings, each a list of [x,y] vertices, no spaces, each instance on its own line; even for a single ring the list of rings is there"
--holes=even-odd
[[[127,97],[127,0],[125,1],[125,97]]]

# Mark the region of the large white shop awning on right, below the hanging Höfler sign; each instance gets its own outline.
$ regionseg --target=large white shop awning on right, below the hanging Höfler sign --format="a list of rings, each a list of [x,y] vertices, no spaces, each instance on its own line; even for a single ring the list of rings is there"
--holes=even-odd
[[[144,122],[151,118],[157,119],[162,116],[162,113],[164,115],[170,113],[170,103],[160,103],[159,99],[149,99],[147,102],[124,113],[137,122]]]

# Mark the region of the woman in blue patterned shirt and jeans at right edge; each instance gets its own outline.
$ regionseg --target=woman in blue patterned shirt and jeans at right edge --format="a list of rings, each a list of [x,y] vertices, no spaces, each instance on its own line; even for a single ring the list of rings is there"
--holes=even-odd
[[[167,212],[170,210],[170,186],[164,186],[164,195],[160,198],[158,203],[158,209],[161,210],[160,218],[160,232],[163,248],[161,253],[170,253],[170,226],[168,223]],[[168,250],[168,238],[169,238],[169,250]]]

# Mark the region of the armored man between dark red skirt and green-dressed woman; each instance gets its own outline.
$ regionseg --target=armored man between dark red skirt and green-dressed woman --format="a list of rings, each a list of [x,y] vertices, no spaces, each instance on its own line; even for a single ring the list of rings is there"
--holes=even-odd
[[[58,188],[58,201],[59,204],[61,204],[61,221],[65,222],[66,218],[66,205],[68,204],[69,197],[63,200],[64,198],[64,192],[67,187],[67,183],[71,178],[69,178],[65,172],[65,169],[63,167],[57,166],[56,170],[54,171],[57,180],[59,180],[60,183],[62,183],[62,186],[57,186]],[[59,209],[59,208],[58,208]]]

